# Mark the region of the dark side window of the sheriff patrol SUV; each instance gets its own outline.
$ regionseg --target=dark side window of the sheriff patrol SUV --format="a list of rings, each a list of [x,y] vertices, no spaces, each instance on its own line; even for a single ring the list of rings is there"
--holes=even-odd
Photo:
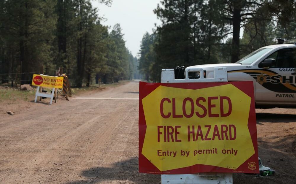
[[[275,59],[274,66],[271,68],[295,68],[296,67],[296,48],[286,48],[278,50],[267,58]]]

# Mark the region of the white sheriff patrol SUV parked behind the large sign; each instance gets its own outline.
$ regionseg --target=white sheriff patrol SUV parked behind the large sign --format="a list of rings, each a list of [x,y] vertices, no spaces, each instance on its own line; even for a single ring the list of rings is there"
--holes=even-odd
[[[214,67],[226,66],[228,81],[254,81],[256,108],[296,108],[295,44],[262,47],[233,64],[206,64],[187,68],[202,68],[205,78],[213,78]],[[197,75],[189,73],[189,78]]]

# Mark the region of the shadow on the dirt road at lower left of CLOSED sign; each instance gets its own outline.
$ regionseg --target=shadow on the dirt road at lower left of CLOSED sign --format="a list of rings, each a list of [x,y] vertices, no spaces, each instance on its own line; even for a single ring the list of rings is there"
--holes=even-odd
[[[93,167],[83,170],[81,175],[85,180],[67,182],[66,184],[78,183],[107,183],[107,181],[121,180],[131,183],[160,183],[160,175],[139,173],[138,157],[117,162],[112,167]]]

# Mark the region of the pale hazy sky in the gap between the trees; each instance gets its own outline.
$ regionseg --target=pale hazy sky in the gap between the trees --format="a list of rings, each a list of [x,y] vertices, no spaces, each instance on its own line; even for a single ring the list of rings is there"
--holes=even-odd
[[[99,9],[99,16],[107,19],[103,25],[111,28],[119,23],[124,34],[126,47],[133,56],[137,56],[140,42],[145,32],[152,33],[154,23],[160,24],[153,13],[160,0],[113,0],[111,7],[92,1],[93,7]]]

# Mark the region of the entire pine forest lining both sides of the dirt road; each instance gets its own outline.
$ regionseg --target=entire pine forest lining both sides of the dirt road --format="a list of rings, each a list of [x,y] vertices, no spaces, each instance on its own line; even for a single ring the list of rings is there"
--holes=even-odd
[[[234,63],[276,38],[295,39],[295,9],[295,0],[161,0],[153,10],[161,23],[143,33],[136,57],[120,24],[108,31],[91,0],[0,0],[0,82],[31,83],[59,67],[76,87],[159,82],[163,68]]]

